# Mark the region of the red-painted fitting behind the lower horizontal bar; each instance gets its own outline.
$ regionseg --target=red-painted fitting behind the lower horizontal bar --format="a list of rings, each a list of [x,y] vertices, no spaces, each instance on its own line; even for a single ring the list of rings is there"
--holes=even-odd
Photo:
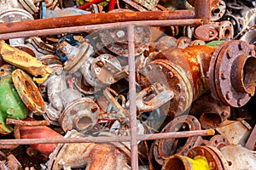
[[[36,127],[26,127],[21,126],[19,128],[20,139],[56,139],[61,138],[60,133],[56,133],[49,127],[46,126],[36,126]],[[46,156],[55,150],[57,144],[30,144],[32,148],[37,149],[39,152],[43,153]]]

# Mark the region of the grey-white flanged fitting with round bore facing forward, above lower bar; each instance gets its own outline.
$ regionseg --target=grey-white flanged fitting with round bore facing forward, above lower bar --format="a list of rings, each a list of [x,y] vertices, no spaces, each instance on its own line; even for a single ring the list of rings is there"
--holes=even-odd
[[[65,108],[60,114],[60,125],[65,132],[76,129],[84,133],[96,124],[100,108],[92,99],[82,98],[71,88],[62,90],[59,95]]]

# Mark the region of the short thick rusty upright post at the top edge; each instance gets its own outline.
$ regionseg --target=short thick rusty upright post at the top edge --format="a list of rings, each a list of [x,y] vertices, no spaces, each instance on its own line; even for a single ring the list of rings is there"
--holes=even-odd
[[[195,17],[203,20],[204,24],[211,21],[212,0],[195,1]]]

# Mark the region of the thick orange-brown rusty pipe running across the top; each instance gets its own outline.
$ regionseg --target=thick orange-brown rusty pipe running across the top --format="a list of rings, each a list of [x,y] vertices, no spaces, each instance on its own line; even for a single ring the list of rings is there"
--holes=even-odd
[[[86,26],[136,20],[182,20],[195,19],[194,10],[168,10],[146,12],[120,12],[102,14],[81,14],[39,20],[23,20],[0,24],[0,33],[34,31],[68,26]]]

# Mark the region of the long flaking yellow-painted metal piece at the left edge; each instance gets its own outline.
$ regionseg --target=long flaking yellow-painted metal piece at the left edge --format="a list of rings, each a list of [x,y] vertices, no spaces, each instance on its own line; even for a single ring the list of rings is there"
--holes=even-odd
[[[7,43],[0,42],[0,54],[3,56],[4,61],[27,71],[32,76],[45,77],[53,72],[50,67],[43,65],[41,61],[32,57],[32,55],[11,47]]]

